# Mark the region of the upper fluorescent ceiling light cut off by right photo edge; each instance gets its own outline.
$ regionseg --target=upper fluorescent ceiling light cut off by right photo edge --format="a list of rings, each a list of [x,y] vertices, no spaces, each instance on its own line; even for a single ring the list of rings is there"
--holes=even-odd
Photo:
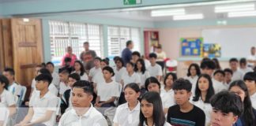
[[[238,11],[248,11],[254,10],[255,5],[252,4],[242,4],[242,5],[227,5],[227,6],[216,6],[215,13],[228,13],[228,12],[238,12]]]

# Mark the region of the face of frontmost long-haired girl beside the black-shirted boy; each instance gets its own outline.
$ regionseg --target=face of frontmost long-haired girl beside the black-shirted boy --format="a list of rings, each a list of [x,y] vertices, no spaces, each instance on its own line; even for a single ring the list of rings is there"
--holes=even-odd
[[[145,99],[141,100],[141,112],[145,118],[152,118],[154,106]]]

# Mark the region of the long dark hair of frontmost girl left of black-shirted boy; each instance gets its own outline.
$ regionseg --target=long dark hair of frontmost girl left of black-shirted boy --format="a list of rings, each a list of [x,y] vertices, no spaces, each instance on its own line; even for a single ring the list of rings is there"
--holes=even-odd
[[[154,125],[163,126],[165,123],[165,117],[164,117],[164,111],[163,111],[163,106],[162,106],[162,100],[160,98],[159,93],[154,92],[154,91],[149,91],[149,92],[145,93],[144,95],[142,95],[141,101],[142,100],[152,103],[152,105],[153,105],[152,118],[153,118]],[[141,111],[139,126],[142,126],[146,120],[147,119],[144,117],[144,115]]]

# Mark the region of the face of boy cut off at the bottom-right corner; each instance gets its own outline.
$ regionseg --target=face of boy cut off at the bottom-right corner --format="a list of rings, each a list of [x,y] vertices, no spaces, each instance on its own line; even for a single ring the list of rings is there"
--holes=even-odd
[[[212,126],[232,126],[238,116],[235,116],[232,112],[222,113],[220,110],[214,109],[211,113],[211,125]]]

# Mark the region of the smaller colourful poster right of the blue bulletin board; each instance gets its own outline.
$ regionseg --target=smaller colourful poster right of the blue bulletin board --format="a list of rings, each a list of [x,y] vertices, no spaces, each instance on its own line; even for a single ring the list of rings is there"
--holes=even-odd
[[[217,43],[205,43],[204,44],[204,57],[220,57],[221,46]]]

